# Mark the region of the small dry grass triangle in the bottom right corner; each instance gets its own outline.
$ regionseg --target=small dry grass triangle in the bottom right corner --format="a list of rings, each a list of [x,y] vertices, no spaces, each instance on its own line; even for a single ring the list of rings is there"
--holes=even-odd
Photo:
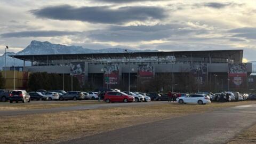
[[[238,134],[228,144],[253,144],[256,143],[256,124]]]

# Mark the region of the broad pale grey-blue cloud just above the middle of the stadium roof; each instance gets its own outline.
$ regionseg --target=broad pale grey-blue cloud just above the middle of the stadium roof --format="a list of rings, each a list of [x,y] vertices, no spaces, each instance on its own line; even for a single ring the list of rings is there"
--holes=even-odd
[[[139,42],[167,39],[170,37],[190,36],[190,34],[205,34],[207,30],[193,29],[185,26],[155,25],[155,26],[127,26],[110,27],[109,30],[90,31],[89,38],[96,41]]]

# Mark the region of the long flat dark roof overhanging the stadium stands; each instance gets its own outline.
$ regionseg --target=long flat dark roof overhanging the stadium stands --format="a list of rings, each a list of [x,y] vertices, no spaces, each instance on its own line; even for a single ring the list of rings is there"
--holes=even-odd
[[[133,52],[133,53],[78,53],[78,54],[38,54],[38,55],[9,55],[25,61],[37,61],[37,60],[68,60],[68,59],[102,59],[102,58],[129,58],[129,57],[228,57],[233,58],[237,62],[242,62],[243,50],[210,50],[210,51],[159,51],[159,52]]]

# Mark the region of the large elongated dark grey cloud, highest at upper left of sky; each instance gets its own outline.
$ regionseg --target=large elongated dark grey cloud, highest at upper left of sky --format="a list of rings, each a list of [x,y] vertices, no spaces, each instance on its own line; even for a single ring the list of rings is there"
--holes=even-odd
[[[32,10],[31,13],[38,18],[113,24],[163,19],[167,17],[164,9],[155,6],[126,6],[111,9],[109,6],[74,7],[70,5],[60,5]]]

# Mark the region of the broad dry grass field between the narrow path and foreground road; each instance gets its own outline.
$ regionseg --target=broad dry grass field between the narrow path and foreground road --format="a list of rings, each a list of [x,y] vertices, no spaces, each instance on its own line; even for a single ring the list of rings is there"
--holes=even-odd
[[[254,101],[179,105],[178,103],[116,107],[51,114],[0,117],[1,143],[54,143],[142,123],[159,121]]]

